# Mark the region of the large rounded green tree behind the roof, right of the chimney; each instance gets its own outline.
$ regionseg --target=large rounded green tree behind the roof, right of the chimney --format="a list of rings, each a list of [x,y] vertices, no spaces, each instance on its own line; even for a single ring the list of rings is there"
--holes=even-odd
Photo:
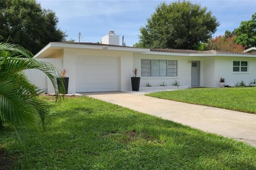
[[[197,49],[217,30],[219,22],[206,7],[189,1],[161,3],[140,28],[136,47]]]

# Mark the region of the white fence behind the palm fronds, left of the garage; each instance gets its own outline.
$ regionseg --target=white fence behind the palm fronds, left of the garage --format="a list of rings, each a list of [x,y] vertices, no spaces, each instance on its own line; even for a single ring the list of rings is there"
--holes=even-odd
[[[51,63],[59,67],[59,69],[62,69],[63,67],[62,59],[59,58],[36,58],[36,60]],[[52,91],[52,83],[47,80],[47,76],[42,71],[36,69],[25,70],[25,75],[28,77],[29,81],[35,84],[42,91]]]

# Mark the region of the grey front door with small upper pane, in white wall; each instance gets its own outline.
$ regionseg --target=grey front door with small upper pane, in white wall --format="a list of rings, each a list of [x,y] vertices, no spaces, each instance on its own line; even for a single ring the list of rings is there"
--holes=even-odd
[[[200,86],[200,62],[191,63],[191,86]]]

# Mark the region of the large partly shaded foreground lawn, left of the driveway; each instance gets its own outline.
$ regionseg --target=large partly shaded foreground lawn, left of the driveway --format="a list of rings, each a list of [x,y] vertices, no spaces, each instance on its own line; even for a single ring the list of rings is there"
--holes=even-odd
[[[10,169],[256,169],[256,148],[242,142],[89,97],[49,103],[46,131],[39,121],[21,131],[26,152],[0,130]]]

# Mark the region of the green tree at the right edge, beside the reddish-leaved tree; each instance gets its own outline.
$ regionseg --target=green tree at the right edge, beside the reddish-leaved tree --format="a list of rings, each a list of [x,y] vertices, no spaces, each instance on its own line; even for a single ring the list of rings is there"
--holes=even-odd
[[[251,20],[242,21],[240,26],[233,31],[236,35],[236,44],[241,44],[246,48],[256,46],[256,13],[252,15]]]

